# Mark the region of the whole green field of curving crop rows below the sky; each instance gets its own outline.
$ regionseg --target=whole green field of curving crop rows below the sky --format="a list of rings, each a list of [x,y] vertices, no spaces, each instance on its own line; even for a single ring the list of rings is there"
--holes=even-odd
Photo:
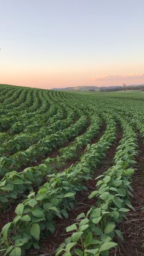
[[[144,92],[0,86],[0,255],[144,255]]]

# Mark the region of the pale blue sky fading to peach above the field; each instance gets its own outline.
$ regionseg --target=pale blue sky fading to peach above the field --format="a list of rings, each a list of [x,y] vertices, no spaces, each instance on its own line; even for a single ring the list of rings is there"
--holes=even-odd
[[[144,84],[143,0],[0,0],[0,83]]]

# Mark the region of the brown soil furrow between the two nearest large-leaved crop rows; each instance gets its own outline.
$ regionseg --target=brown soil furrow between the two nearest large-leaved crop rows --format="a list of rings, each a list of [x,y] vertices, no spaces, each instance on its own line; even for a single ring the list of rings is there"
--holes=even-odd
[[[70,233],[65,232],[66,227],[68,225],[76,222],[76,217],[78,214],[84,212],[86,213],[92,205],[96,203],[95,199],[88,199],[88,195],[96,189],[95,178],[98,175],[103,174],[109,167],[113,165],[113,157],[115,155],[118,144],[122,138],[122,131],[120,127],[117,129],[117,139],[113,143],[112,147],[107,151],[106,158],[103,161],[103,164],[96,169],[95,174],[93,175],[93,180],[88,180],[83,183],[83,185],[87,186],[87,191],[81,191],[76,196],[76,203],[74,205],[74,209],[68,212],[68,219],[59,219],[56,218],[56,230],[54,234],[49,234],[48,238],[41,241],[40,243],[40,252],[31,250],[27,256],[32,255],[40,255],[43,256],[54,256],[54,252],[56,248],[60,246],[61,243],[67,238]],[[40,254],[39,254],[40,253]]]

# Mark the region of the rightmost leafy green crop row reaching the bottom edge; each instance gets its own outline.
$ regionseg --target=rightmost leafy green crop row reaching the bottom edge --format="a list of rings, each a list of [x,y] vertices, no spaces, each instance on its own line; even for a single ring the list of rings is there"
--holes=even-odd
[[[115,165],[96,178],[96,190],[89,198],[96,199],[88,212],[77,216],[77,222],[67,227],[73,233],[59,247],[56,255],[109,255],[109,249],[117,246],[113,238],[123,235],[117,224],[126,218],[132,208],[131,175],[134,172],[134,156],[137,155],[137,136],[131,126],[121,119],[123,139],[117,148]]]

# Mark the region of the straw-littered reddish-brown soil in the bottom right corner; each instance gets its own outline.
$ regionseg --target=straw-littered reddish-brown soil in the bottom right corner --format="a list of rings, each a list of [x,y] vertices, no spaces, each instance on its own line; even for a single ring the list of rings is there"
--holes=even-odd
[[[139,137],[139,155],[136,156],[137,164],[132,177],[132,206],[135,211],[129,211],[127,219],[118,229],[123,233],[124,241],[118,241],[118,247],[113,250],[112,256],[142,256],[144,255],[144,145]],[[143,208],[143,210],[142,210]]]

